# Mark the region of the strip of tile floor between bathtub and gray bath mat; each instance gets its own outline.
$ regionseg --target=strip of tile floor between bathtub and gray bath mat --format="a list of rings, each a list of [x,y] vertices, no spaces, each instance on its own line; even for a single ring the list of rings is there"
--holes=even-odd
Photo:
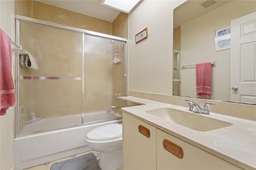
[[[93,152],[94,154],[96,154],[96,158],[98,160],[99,156],[100,156],[100,153],[99,152],[96,152],[94,150],[91,150],[89,152],[84,152],[84,153],[81,153],[81,154],[77,154],[77,155],[73,155],[73,156],[69,156],[69,157],[66,157],[66,158],[62,158],[62,159],[59,159],[59,160],[54,160],[52,162],[48,162],[46,164],[42,164],[42,165],[38,165],[38,166],[34,166],[32,168],[28,168],[28,169],[25,169],[25,170],[50,170],[52,164],[56,163],[56,162],[60,162],[60,161],[63,161],[63,160],[68,160],[68,159],[71,159],[71,158],[74,158],[74,157],[77,157],[77,156],[81,156],[81,155],[84,155],[84,154],[88,154],[90,152]],[[122,169],[119,169],[119,170],[122,170]]]

